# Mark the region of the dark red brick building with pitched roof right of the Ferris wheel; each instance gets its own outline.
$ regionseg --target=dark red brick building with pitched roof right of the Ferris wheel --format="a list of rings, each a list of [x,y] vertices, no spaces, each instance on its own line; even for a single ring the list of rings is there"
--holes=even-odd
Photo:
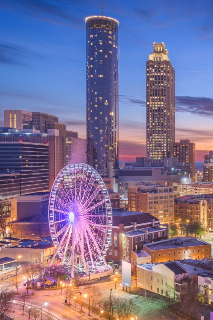
[[[142,249],[143,244],[167,238],[168,225],[148,212],[112,210],[112,234],[107,250],[108,261],[131,261],[131,251]]]

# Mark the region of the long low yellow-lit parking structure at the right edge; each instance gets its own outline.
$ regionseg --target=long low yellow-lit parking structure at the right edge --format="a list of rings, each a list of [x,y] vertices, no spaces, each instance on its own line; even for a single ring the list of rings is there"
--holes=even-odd
[[[213,193],[213,182],[172,183],[178,197]]]

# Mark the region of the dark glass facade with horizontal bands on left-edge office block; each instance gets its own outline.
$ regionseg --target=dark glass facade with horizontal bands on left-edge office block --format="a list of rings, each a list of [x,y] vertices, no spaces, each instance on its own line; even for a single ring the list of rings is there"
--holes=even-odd
[[[20,172],[21,195],[48,190],[48,148],[47,144],[0,142],[1,170]]]

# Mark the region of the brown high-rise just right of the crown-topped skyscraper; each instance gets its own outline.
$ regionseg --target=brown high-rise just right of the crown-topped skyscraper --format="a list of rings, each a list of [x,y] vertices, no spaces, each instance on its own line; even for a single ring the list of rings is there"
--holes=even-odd
[[[178,161],[183,161],[190,164],[190,175],[192,182],[195,181],[195,143],[188,139],[175,142],[173,145],[173,156],[178,158]]]

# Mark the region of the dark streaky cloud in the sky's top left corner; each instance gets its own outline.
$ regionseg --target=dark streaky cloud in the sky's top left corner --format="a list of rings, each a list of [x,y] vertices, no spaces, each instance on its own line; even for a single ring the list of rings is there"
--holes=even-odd
[[[75,27],[83,26],[82,20],[74,12],[74,9],[80,10],[80,6],[81,0],[3,0],[0,3],[4,10],[22,11],[33,19]]]

